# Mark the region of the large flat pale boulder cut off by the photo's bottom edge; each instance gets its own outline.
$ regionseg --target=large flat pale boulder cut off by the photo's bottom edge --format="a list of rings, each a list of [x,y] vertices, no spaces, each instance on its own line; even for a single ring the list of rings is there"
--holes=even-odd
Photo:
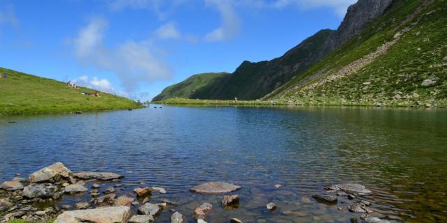
[[[54,220],[54,223],[124,223],[131,217],[129,207],[105,207],[88,210],[68,210]]]

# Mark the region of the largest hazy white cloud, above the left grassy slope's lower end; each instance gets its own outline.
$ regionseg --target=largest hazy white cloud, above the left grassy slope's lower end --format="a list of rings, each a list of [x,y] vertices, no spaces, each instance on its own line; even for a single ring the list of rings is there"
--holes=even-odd
[[[150,40],[129,40],[116,47],[104,45],[105,24],[103,19],[96,18],[80,29],[73,43],[75,55],[82,63],[115,72],[129,93],[135,91],[138,84],[170,78],[170,66],[161,61],[161,50]],[[106,84],[100,80],[95,83]]]

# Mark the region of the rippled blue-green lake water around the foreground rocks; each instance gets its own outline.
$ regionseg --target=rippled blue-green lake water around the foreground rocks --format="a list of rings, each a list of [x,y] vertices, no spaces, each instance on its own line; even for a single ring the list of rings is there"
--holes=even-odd
[[[351,182],[373,191],[361,199],[382,217],[447,222],[446,110],[163,106],[0,118],[1,181],[54,162],[123,174],[118,195],[140,182],[165,187],[153,203],[177,201],[190,221],[207,201],[214,206],[208,222],[349,222],[360,217],[346,209],[353,201],[327,206],[312,194]],[[232,193],[241,197],[239,208],[221,208],[221,195],[189,192],[214,180],[242,186]],[[88,194],[61,203],[84,200]],[[270,201],[274,212],[263,207]],[[164,211],[158,222],[170,215]]]

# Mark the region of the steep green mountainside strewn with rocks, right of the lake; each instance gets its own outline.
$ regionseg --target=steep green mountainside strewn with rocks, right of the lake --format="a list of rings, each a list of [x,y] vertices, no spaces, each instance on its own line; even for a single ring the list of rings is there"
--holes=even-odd
[[[372,23],[337,51],[325,57],[312,68],[299,74],[268,98],[297,105],[375,105],[392,106],[439,105],[446,106],[447,98],[447,1],[437,0],[419,13],[413,21],[395,29],[421,1],[402,0],[394,3],[390,11]],[[431,12],[434,10],[434,12]],[[427,14],[429,13],[429,14]],[[413,22],[416,22],[414,24]],[[302,87],[318,79],[301,82],[318,72],[340,68],[373,52],[392,40],[393,36],[411,26],[386,54],[379,56],[365,68],[335,82],[303,90]],[[329,72],[331,73],[331,72]],[[423,87],[424,79],[436,77],[437,85]],[[365,86],[364,82],[371,82]],[[395,95],[402,98],[396,100]]]

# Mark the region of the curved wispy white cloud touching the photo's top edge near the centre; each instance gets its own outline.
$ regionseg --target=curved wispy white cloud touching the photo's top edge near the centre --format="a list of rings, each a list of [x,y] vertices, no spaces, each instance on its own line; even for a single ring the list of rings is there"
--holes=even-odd
[[[237,36],[240,31],[240,18],[235,13],[230,0],[205,0],[207,6],[212,6],[219,10],[222,24],[205,35],[207,41],[231,40]]]

